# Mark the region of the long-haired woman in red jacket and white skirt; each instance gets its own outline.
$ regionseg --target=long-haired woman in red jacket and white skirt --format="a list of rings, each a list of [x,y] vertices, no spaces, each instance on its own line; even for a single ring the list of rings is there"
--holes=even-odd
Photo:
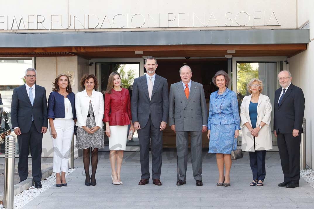
[[[123,184],[120,178],[123,150],[127,145],[127,126],[134,127],[131,115],[131,100],[128,89],[121,88],[120,74],[112,72],[108,78],[105,92],[105,112],[103,122],[106,123],[106,135],[109,137],[110,164],[112,183]],[[117,166],[116,166],[117,164]]]

